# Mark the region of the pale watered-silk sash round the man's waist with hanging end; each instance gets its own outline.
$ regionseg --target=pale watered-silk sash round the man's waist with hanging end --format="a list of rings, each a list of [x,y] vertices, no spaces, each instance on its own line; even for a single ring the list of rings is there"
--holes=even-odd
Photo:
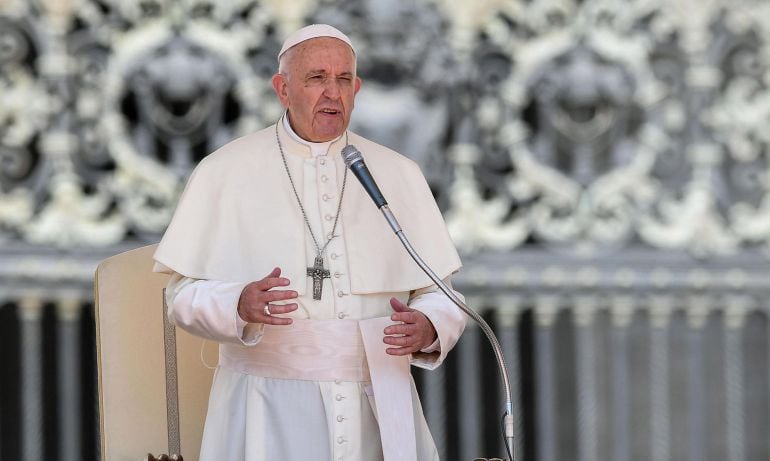
[[[416,461],[409,358],[388,355],[388,317],[265,325],[256,346],[222,344],[219,364],[253,376],[372,382],[385,461]]]

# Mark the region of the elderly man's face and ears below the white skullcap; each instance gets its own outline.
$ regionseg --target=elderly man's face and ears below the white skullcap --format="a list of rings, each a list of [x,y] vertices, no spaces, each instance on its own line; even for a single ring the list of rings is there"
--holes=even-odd
[[[274,75],[272,83],[292,128],[311,142],[337,138],[348,127],[361,88],[353,50],[336,38],[320,37],[289,52],[286,75]]]

